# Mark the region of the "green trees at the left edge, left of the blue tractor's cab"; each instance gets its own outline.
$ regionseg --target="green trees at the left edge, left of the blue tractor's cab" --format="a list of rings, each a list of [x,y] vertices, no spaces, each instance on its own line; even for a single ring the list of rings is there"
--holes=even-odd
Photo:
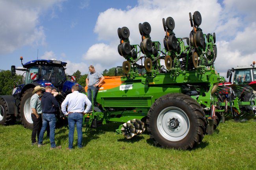
[[[10,70],[0,70],[0,95],[12,95],[13,87],[17,84],[23,84],[22,75],[11,75]]]

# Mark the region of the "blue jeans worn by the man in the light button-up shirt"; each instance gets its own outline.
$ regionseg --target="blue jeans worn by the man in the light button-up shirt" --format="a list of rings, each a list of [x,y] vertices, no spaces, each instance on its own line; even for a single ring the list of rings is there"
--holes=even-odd
[[[83,114],[81,113],[69,113],[69,148],[73,148],[74,141],[74,130],[76,124],[77,131],[77,145],[78,148],[82,148],[82,124],[83,124]]]

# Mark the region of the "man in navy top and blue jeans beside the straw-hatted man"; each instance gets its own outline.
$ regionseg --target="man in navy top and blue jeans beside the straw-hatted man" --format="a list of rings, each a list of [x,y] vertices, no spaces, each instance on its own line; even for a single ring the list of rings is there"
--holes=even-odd
[[[39,135],[38,147],[43,145],[43,137],[47,127],[47,123],[50,125],[50,143],[52,149],[59,149],[61,146],[56,146],[54,136],[55,136],[55,126],[56,126],[56,117],[55,114],[59,108],[58,101],[51,93],[52,88],[50,86],[45,87],[45,93],[42,97],[42,110],[43,110],[43,126]]]

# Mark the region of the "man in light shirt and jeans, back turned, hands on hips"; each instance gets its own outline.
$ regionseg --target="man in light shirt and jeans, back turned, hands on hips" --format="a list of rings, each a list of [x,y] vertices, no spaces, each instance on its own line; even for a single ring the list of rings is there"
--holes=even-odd
[[[61,104],[61,110],[65,116],[69,115],[69,150],[73,148],[74,141],[74,128],[76,124],[77,131],[77,145],[78,148],[82,148],[82,124],[83,114],[88,113],[91,109],[91,101],[86,97],[85,94],[78,92],[78,85],[72,86],[72,93],[67,95],[66,99]],[[86,109],[84,106],[86,104]],[[68,106],[66,111],[66,106]]]

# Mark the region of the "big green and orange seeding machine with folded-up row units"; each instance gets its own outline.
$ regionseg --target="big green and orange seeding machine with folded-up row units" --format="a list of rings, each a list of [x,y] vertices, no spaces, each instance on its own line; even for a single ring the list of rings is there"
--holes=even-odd
[[[121,122],[117,133],[129,139],[142,133],[146,123],[155,144],[183,150],[194,148],[206,133],[213,133],[224,111],[218,108],[215,95],[219,82],[224,81],[213,64],[215,33],[202,32],[198,11],[193,18],[189,13],[189,18],[193,29],[185,38],[176,37],[172,17],[163,18],[163,49],[160,42],[152,41],[148,22],[139,24],[139,45],[130,44],[127,27],[118,28],[125,76],[105,77],[96,97],[101,111],[85,116],[87,128],[97,122]]]

